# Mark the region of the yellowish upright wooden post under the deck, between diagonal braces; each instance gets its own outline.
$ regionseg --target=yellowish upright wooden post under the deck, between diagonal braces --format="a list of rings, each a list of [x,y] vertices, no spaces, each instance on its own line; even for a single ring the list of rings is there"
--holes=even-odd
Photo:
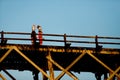
[[[48,51],[47,57],[51,59],[50,51]],[[50,60],[48,60],[48,69],[49,69],[51,80],[54,80],[54,69],[53,69],[53,64],[52,64],[52,62]]]

